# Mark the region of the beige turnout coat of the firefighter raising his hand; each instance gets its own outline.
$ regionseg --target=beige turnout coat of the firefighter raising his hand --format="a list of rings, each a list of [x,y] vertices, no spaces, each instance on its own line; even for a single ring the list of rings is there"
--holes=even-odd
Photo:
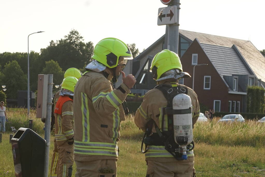
[[[111,77],[108,77],[111,78]],[[121,103],[130,90],[123,83],[112,89],[102,73],[83,74],[74,89],[74,160],[117,160],[120,124],[125,120]]]

